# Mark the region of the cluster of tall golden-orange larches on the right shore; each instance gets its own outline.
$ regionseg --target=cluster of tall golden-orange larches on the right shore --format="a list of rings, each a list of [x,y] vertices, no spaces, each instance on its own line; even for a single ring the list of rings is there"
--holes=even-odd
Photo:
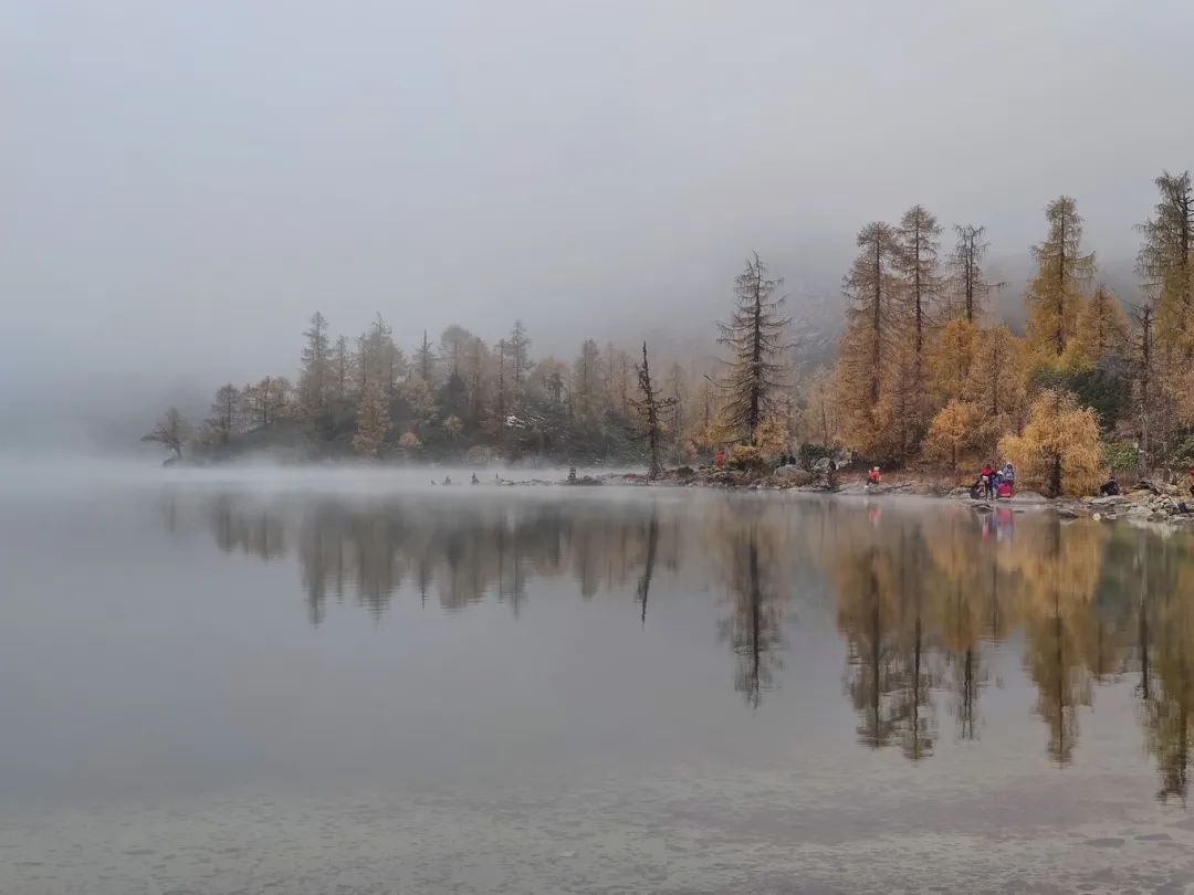
[[[1132,303],[1098,282],[1075,200],[1048,203],[1022,335],[987,313],[981,227],[946,258],[919,205],[863,228],[837,364],[808,391],[823,437],[894,464],[1011,459],[1052,494],[1194,462],[1194,197],[1189,173],[1156,185]]]

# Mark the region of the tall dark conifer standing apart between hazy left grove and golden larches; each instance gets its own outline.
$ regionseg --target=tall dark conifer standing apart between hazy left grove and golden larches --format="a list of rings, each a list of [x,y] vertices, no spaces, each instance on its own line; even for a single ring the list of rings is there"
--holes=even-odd
[[[782,284],[770,279],[758,253],[734,279],[736,307],[730,321],[719,323],[720,345],[728,348],[721,387],[726,394],[726,424],[755,440],[755,432],[770,409],[780,388],[784,365],[781,357],[788,317],[783,316],[783,297],[776,297]]]

